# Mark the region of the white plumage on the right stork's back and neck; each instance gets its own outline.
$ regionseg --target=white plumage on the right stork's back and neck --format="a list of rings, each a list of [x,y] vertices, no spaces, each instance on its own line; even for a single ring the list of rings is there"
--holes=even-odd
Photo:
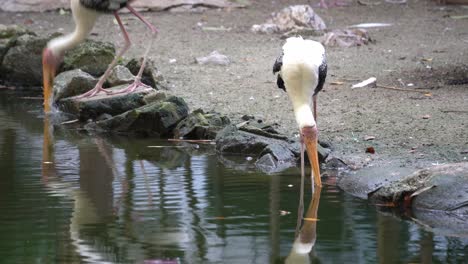
[[[283,46],[281,77],[300,128],[315,126],[311,104],[318,83],[318,69],[325,58],[319,42],[291,37]]]

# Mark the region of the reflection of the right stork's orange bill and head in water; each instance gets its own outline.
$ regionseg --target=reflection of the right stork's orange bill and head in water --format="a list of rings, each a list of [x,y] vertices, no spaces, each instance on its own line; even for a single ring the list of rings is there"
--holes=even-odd
[[[302,227],[300,230],[299,225],[296,227],[296,238],[285,263],[310,263],[310,252],[317,238],[317,213],[321,191],[322,187],[316,186],[305,217],[302,219],[302,214],[298,214],[298,222],[302,219]]]

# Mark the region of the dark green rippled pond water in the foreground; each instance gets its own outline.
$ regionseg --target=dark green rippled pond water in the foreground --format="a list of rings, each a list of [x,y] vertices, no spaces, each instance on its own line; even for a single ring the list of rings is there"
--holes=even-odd
[[[0,263],[468,263],[467,238],[331,185],[311,210],[306,188],[294,244],[299,170],[235,164],[211,146],[52,131],[40,100],[0,93]]]

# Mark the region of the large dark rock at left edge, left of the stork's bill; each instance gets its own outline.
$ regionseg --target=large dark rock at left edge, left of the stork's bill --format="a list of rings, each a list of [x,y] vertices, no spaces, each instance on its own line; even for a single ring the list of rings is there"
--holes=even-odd
[[[23,34],[7,40],[0,68],[0,77],[22,86],[39,86],[42,83],[42,49],[48,39]]]

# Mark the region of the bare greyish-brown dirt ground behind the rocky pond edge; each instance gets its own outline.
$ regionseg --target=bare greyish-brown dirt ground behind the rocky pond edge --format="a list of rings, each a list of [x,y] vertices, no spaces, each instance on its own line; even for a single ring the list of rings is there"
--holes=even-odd
[[[238,120],[244,114],[278,123],[283,133],[297,134],[286,93],[276,88],[272,65],[284,42],[279,35],[250,31],[271,12],[308,1],[251,1],[246,9],[208,10],[202,13],[145,13],[159,29],[151,51],[171,91],[183,96],[191,109],[203,108]],[[377,2],[377,1],[374,1]],[[356,166],[366,164],[424,167],[468,158],[468,14],[460,6],[408,0],[398,5],[378,1],[363,6],[314,8],[329,29],[364,22],[391,23],[369,29],[374,43],[351,48],[327,48],[328,77],[319,94],[320,139],[330,142],[334,155]],[[134,41],[127,57],[139,56],[146,28],[125,15]],[[0,13],[0,23],[24,24],[48,34],[69,32],[70,15],[58,12]],[[229,31],[204,31],[206,27]],[[103,15],[91,38],[120,45],[122,36],[111,15]],[[217,50],[229,56],[229,66],[204,66],[195,57]],[[170,60],[176,62],[171,63]],[[375,76],[381,85],[422,89],[423,92],[383,88],[351,89],[358,80]],[[331,82],[344,81],[342,85]],[[408,87],[407,84],[414,86]],[[404,86],[403,86],[404,85]],[[405,87],[406,86],[406,87]],[[423,118],[425,117],[425,118]],[[374,136],[365,141],[366,136]],[[373,146],[375,154],[367,154]]]

